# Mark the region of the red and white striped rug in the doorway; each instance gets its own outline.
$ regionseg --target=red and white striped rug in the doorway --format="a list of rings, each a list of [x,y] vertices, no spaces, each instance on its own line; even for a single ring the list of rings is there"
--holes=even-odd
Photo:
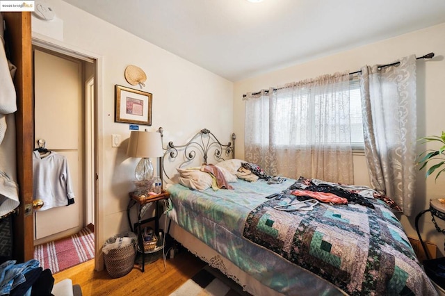
[[[95,235],[85,227],[68,238],[46,242],[34,247],[34,258],[43,269],[54,274],[95,258]]]

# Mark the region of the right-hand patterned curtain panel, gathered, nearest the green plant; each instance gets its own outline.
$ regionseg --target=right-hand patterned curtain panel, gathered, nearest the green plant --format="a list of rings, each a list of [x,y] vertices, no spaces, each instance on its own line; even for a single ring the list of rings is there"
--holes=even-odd
[[[416,172],[416,58],[362,68],[364,145],[371,186],[412,213]]]

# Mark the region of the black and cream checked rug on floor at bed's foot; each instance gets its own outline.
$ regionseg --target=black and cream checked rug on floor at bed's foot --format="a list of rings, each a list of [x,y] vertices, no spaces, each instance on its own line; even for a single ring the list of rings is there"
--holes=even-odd
[[[206,266],[170,296],[248,296],[241,286],[224,274]]]

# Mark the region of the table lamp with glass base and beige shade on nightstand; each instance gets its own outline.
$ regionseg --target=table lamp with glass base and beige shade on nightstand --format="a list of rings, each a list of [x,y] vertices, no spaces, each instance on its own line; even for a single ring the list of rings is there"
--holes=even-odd
[[[163,156],[161,133],[147,130],[131,131],[127,156],[141,158],[134,171],[136,186],[137,182],[152,180],[154,170],[150,157]]]

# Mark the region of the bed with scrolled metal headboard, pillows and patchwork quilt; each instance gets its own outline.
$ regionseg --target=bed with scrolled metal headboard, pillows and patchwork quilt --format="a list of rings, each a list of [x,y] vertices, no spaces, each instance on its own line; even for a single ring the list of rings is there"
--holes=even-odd
[[[437,295],[391,199],[364,186],[264,178],[233,159],[234,140],[202,129],[165,149],[169,233],[190,252],[252,295]],[[321,202],[317,186],[351,196]]]

